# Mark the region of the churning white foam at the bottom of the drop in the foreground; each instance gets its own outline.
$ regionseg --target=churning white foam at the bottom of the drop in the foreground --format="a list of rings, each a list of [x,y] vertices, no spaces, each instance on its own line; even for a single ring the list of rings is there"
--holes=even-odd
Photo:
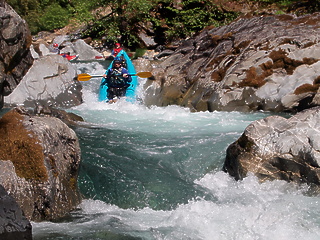
[[[195,182],[216,200],[198,197],[170,211],[85,200],[70,222],[35,224],[35,239],[48,232],[64,239],[319,239],[319,200],[303,194],[306,186],[253,176],[236,182],[220,171]]]

